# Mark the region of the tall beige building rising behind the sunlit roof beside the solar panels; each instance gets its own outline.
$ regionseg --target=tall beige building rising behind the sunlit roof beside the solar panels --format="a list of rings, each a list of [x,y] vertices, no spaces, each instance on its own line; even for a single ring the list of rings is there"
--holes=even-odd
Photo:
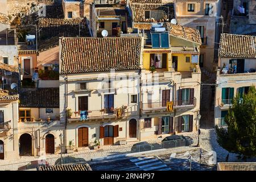
[[[214,49],[218,40],[216,22],[220,18],[220,1],[176,0],[175,13],[178,24],[199,30],[202,42],[200,67],[213,72],[214,64],[217,64],[217,52]]]

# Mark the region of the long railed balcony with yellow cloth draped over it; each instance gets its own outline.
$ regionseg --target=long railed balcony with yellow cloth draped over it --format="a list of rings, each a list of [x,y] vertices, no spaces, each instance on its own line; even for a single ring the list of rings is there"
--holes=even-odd
[[[173,101],[173,109],[189,109],[196,106],[196,98],[194,97],[191,100],[176,100]],[[159,112],[167,111],[167,106],[165,102],[148,102],[142,103],[142,111],[147,112]]]

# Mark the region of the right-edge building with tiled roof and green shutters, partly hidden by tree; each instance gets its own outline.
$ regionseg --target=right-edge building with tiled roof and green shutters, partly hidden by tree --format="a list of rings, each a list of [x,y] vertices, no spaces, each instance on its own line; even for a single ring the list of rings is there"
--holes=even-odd
[[[218,71],[214,119],[215,125],[226,126],[224,121],[233,98],[246,94],[249,86],[256,85],[256,36],[221,34],[218,50]]]

